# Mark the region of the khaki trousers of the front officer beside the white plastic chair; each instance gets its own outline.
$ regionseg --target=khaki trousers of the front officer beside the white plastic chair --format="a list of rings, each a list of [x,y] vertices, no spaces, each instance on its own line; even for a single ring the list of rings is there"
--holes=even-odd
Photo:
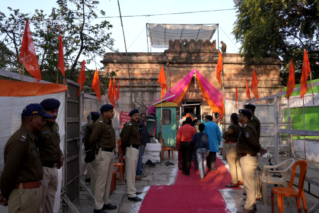
[[[256,198],[260,194],[260,185],[257,171],[258,156],[243,156],[240,159],[241,175],[247,193],[245,209],[252,210]]]

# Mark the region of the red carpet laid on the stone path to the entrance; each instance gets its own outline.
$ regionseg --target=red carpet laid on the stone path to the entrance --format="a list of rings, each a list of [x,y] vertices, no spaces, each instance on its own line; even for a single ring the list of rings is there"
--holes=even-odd
[[[217,171],[206,170],[204,180],[199,179],[199,171],[195,171],[192,165],[190,176],[178,171],[174,185],[151,186],[138,213],[229,213],[219,189],[225,189],[225,185],[231,182],[231,176],[223,162],[216,160]]]

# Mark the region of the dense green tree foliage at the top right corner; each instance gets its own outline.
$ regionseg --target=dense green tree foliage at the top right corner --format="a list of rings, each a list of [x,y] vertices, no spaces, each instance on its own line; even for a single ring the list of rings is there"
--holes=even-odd
[[[280,77],[288,81],[293,59],[296,83],[300,83],[304,49],[308,52],[313,79],[319,78],[319,0],[239,0],[233,34],[248,62],[279,57]]]

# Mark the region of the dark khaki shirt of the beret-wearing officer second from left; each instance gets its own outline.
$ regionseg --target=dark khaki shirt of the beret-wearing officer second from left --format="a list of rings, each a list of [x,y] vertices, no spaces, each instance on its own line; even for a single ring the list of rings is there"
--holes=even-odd
[[[56,122],[46,123],[41,133],[38,133],[38,148],[41,161],[58,163],[63,153],[60,149],[59,126]]]

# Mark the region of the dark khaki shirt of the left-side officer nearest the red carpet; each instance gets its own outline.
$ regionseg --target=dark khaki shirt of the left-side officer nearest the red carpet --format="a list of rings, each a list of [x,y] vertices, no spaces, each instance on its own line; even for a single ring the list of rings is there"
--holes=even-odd
[[[139,129],[136,122],[129,121],[124,126],[120,133],[122,150],[126,149],[127,145],[141,146]]]

